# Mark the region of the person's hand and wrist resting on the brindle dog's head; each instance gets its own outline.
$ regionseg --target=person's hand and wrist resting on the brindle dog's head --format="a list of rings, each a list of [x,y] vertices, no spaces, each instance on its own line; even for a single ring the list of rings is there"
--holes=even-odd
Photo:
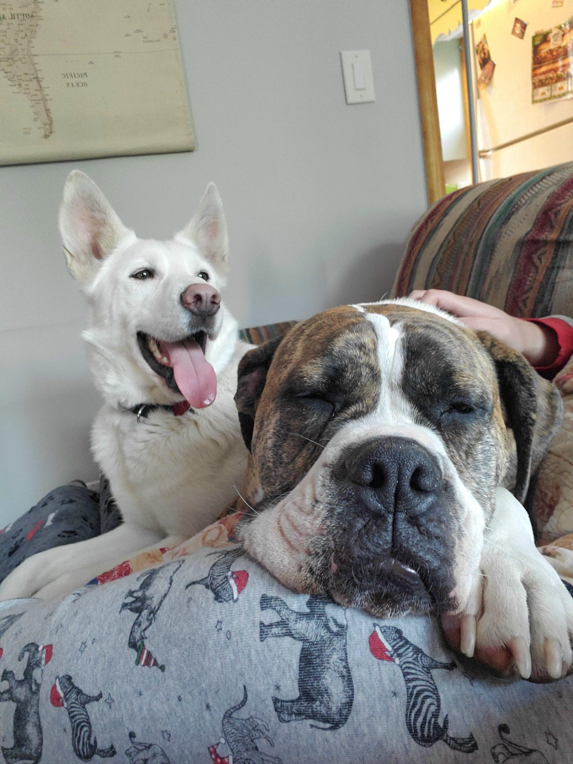
[[[558,354],[555,332],[549,326],[508,316],[499,308],[440,289],[413,290],[409,295],[457,316],[468,329],[483,329],[527,358],[532,366],[549,366]]]

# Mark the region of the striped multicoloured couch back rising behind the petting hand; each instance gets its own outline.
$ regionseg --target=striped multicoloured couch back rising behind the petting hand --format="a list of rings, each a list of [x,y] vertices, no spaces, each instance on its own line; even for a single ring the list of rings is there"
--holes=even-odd
[[[430,288],[512,316],[573,315],[573,162],[436,202],[413,228],[393,296]]]

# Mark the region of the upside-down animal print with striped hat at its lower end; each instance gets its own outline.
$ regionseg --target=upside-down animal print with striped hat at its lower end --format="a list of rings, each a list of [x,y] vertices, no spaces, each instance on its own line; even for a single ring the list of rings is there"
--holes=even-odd
[[[136,652],[135,665],[157,666],[161,671],[165,666],[160,665],[145,646],[147,629],[152,626],[165,597],[169,594],[173,584],[173,576],[183,565],[183,560],[175,565],[160,565],[151,568],[151,571],[142,573],[136,581],[139,582],[137,589],[130,589],[125,595],[125,601],[121,603],[119,612],[129,610],[135,613],[137,618],[131,626],[128,637],[128,646]]]

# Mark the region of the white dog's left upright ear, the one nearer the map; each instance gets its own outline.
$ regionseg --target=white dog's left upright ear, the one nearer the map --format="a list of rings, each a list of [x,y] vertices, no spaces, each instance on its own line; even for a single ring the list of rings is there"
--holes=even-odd
[[[133,235],[98,186],[79,170],[73,170],[63,186],[59,224],[68,270],[83,284],[92,280],[122,238]]]

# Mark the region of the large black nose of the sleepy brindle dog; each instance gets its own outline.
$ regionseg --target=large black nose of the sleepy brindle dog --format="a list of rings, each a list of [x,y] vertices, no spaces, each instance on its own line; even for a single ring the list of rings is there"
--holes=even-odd
[[[424,513],[443,484],[435,456],[418,442],[397,436],[355,446],[342,461],[340,477],[376,513]]]

